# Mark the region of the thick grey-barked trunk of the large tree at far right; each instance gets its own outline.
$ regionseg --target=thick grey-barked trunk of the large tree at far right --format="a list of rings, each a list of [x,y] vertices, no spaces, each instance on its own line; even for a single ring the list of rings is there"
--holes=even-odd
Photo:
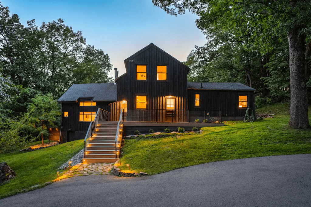
[[[305,40],[295,26],[287,33],[290,49],[290,122],[292,128],[308,128],[308,93],[305,75]]]

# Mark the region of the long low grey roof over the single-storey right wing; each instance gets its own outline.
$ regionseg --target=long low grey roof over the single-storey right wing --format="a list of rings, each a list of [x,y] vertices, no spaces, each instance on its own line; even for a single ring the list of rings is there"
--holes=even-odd
[[[205,89],[205,90],[230,90],[230,91],[256,91],[242,83],[196,83],[188,82],[188,89]]]

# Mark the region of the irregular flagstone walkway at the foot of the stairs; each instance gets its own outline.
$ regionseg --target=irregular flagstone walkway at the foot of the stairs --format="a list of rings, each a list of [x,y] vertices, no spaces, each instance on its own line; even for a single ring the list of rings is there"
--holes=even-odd
[[[60,179],[68,177],[76,177],[83,175],[105,175],[109,174],[114,163],[94,163],[94,164],[82,164],[79,163],[65,172]]]

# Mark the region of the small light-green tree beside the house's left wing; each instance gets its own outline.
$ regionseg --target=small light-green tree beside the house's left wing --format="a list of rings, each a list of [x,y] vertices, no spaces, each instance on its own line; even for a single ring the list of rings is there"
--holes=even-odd
[[[48,136],[48,128],[60,125],[61,107],[52,94],[37,95],[32,99],[33,103],[28,106],[31,115],[29,122],[41,135],[42,144],[44,136]]]

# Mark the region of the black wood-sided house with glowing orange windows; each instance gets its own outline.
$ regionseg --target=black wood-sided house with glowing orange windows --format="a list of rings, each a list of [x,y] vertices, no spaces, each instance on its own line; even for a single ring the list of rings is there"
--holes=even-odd
[[[121,120],[127,134],[243,120],[247,108],[255,113],[254,88],[242,83],[188,83],[188,66],[153,43],[124,64],[126,73],[120,77],[115,69],[115,83],[73,84],[58,99],[63,142],[94,131],[96,125],[90,123],[97,111],[106,117],[101,120]],[[200,123],[194,123],[196,119]]]

